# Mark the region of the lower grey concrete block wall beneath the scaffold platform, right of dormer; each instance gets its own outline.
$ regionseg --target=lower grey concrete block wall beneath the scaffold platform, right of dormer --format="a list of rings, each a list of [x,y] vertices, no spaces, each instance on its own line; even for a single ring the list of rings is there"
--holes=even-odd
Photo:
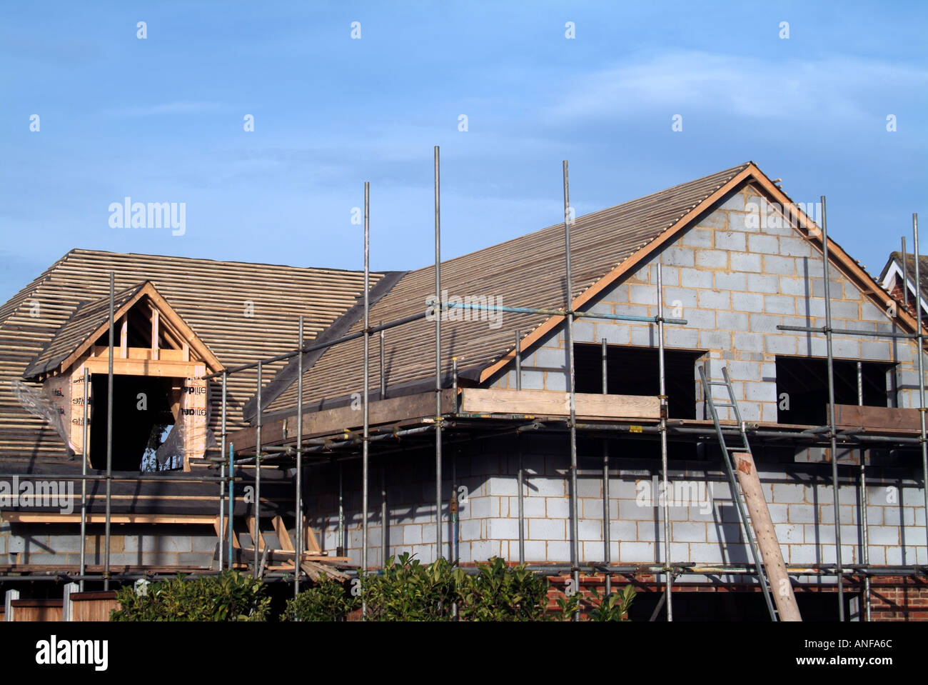
[[[446,500],[452,492],[452,459],[458,474],[461,562],[484,562],[492,556],[509,561],[519,557],[517,447],[511,440],[480,450],[446,456],[444,486],[443,549],[452,555],[452,531]],[[525,491],[525,558],[528,562],[570,562],[571,513],[569,459],[561,437],[523,437]],[[612,459],[609,520],[612,562],[650,564],[664,560],[664,509],[657,469],[646,474],[623,469],[623,457],[636,456],[637,443]],[[583,456],[583,455],[582,455]],[[592,455],[586,455],[590,457]],[[422,562],[435,557],[434,472],[431,455],[391,459],[387,472],[388,555],[404,551]],[[347,554],[361,560],[360,492],[353,484],[360,473],[343,467]],[[581,469],[582,469],[581,464]],[[372,464],[369,499],[368,563],[379,566],[380,466]],[[834,562],[834,513],[830,475],[820,466],[802,467],[798,476],[765,468],[760,472],[771,518],[777,528],[784,560],[788,563]],[[805,475],[803,475],[805,474]],[[338,543],[337,476],[317,473],[314,492],[308,498],[311,520],[323,532],[325,549]],[[332,488],[332,483],[335,488]],[[699,563],[750,562],[738,512],[728,483],[716,463],[704,470],[670,473],[671,561]],[[464,488],[463,490],[461,488]],[[578,532],[581,562],[600,562],[603,549],[602,481],[598,474],[582,472],[578,479]],[[464,495],[466,497],[460,497]],[[928,562],[925,545],[922,489],[898,482],[874,481],[868,487],[870,563],[911,564]],[[842,526],[842,560],[861,563],[861,538],[857,523],[858,489],[841,487],[839,524]],[[819,582],[816,580],[816,582]]]

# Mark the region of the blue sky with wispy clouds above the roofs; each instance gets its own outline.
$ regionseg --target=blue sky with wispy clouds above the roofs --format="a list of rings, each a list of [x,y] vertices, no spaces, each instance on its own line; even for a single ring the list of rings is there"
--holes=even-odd
[[[928,5],[748,5],[5,3],[0,302],[75,247],[361,268],[364,181],[372,268],[428,265],[434,145],[445,257],[557,223],[563,159],[577,213],[753,160],[878,273],[928,226]]]

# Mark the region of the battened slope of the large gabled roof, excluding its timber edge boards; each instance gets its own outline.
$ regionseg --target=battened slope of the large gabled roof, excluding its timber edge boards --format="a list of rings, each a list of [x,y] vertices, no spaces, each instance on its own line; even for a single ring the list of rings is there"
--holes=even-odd
[[[587,291],[622,265],[631,255],[661,236],[720,187],[743,174],[750,162],[716,174],[670,187],[661,192],[624,204],[577,217],[571,226],[571,291],[574,296]],[[494,245],[442,263],[442,289],[449,295],[484,295],[498,298],[496,304],[558,308],[564,304],[563,224],[548,226],[535,233]],[[409,272],[371,307],[370,321],[391,321],[425,311],[426,300],[434,293],[433,267]],[[458,368],[478,373],[511,350],[515,330],[524,336],[548,320],[546,315],[509,314],[503,325],[443,321],[442,359],[445,372],[451,357],[458,356]],[[352,330],[360,330],[355,326]],[[419,320],[388,330],[386,375],[390,386],[415,384],[434,377],[434,323]],[[377,341],[372,342],[376,350]],[[345,342],[329,349],[303,377],[306,407],[324,398],[340,400],[362,388],[363,342]],[[371,364],[370,387],[379,387],[377,355]],[[465,373],[465,375],[467,375]],[[290,413],[296,406],[295,383],[267,407],[268,412]]]

